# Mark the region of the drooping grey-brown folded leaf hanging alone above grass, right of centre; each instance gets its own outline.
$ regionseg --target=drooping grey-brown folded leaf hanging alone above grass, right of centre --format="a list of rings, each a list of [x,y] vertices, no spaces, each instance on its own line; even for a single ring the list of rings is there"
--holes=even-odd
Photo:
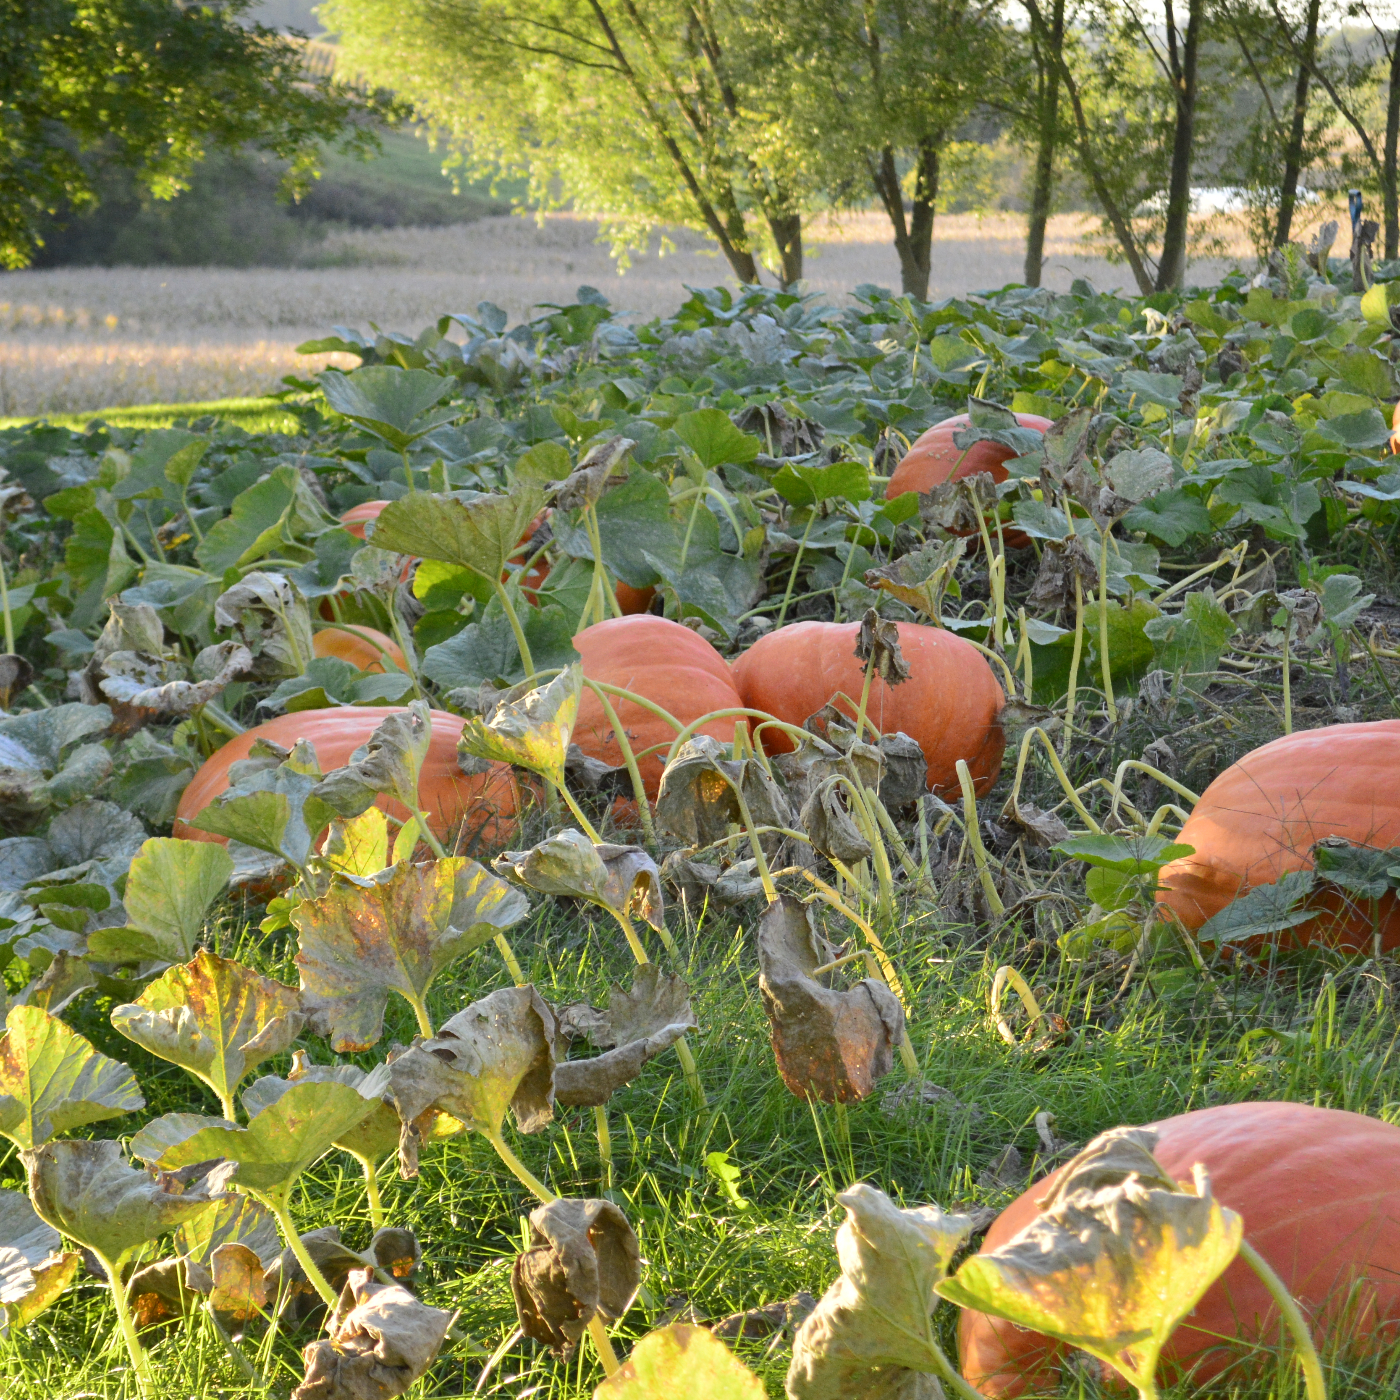
[[[759,991],[783,1082],[799,1098],[844,1103],[889,1072],[904,1012],[882,981],[836,991],[813,980],[833,953],[801,900],[784,895],[759,921]]]

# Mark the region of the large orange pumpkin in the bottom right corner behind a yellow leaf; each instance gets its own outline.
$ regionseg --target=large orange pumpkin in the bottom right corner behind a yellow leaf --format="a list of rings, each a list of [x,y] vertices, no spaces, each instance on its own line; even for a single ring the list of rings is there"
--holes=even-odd
[[[1394,1340],[1400,1330],[1400,1127],[1309,1103],[1228,1103],[1154,1123],[1156,1159],[1179,1182],[1203,1162],[1217,1198],[1245,1219],[1245,1238],[1302,1303],[1319,1350],[1343,1322],[1348,1337]],[[1063,1168],[1061,1168],[1063,1170]],[[1004,1245],[1039,1212],[1060,1172],[1032,1186],[993,1222],[981,1246]],[[1348,1292],[1355,1281],[1355,1295]],[[1345,1308],[1345,1319],[1340,1310]],[[1378,1336],[1379,1334],[1379,1336]],[[1222,1338],[1242,1338],[1232,1347]],[[1236,1259],[1172,1334],[1170,1371],[1197,1382],[1273,1344],[1278,1319],[1259,1275]],[[986,1313],[958,1324],[962,1372],[986,1396],[1057,1390],[1065,1348]]]

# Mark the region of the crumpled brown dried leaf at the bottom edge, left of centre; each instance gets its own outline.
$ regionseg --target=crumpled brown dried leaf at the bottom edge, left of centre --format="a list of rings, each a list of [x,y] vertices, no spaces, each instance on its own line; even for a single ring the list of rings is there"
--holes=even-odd
[[[454,1313],[428,1308],[402,1284],[377,1284],[368,1270],[350,1274],[325,1341],[302,1352],[305,1380],[293,1400],[388,1400],[433,1364]]]

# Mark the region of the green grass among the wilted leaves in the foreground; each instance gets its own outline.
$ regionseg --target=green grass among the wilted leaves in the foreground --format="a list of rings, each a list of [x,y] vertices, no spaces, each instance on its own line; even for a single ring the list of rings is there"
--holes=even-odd
[[[294,942],[265,938],[256,917],[258,910],[231,910],[213,931],[214,945],[294,983]],[[811,1106],[794,1098],[774,1071],[752,930],[732,916],[694,923],[673,911],[671,923],[696,994],[700,1029],[693,1046],[710,1105],[704,1113],[694,1109],[675,1056],[666,1054],[609,1107],[616,1200],[638,1232],[645,1261],[645,1296],[617,1330],[620,1348],[673,1308],[717,1319],[799,1288],[819,1295],[836,1274],[832,1233],[841,1211],[833,1197],[851,1182],[871,1182],[906,1204],[1005,1204],[1014,1193],[979,1186],[979,1173],[1008,1142],[1029,1165],[1037,1147],[1035,1114],[1042,1109],[1056,1114],[1058,1134],[1075,1144],[1119,1123],[1239,1099],[1288,1098],[1400,1114],[1393,998],[1368,965],[1308,953],[1282,960],[1270,976],[1218,969],[1217,1000],[1189,974],[1184,960],[1166,958],[1113,1004],[1117,962],[1071,963],[1044,941],[1019,934],[988,941],[973,927],[913,910],[892,949],[911,990],[910,1029],[924,1075],[966,1107],[935,1105],[886,1114],[882,1093],[903,1082],[897,1070],[864,1103],[846,1110]],[[610,983],[630,980],[626,945],[606,918],[545,903],[511,937],[528,974],[553,1004],[581,997],[598,1002]],[[652,952],[662,956],[659,946]],[[1067,1018],[1065,1043],[1036,1056],[997,1036],[987,993],[1002,962],[1021,967],[1043,1002]],[[504,969],[487,945],[435,984],[430,994],[435,1023],[501,986],[507,986]],[[105,1053],[132,1064],[148,1100],[147,1114],[139,1117],[217,1112],[193,1079],[116,1035],[106,1021],[109,1009],[90,1000],[69,1018]],[[1246,1039],[1256,1028],[1299,1035],[1281,1050],[1274,1036]],[[407,1042],[413,1029],[407,1005],[391,998],[377,1050],[382,1054],[391,1042]],[[319,1043],[314,1057],[329,1058]],[[260,1072],[281,1068],[267,1065]],[[137,1126],[137,1117],[99,1126],[99,1135],[129,1134]],[[533,1137],[507,1131],[553,1190],[599,1194],[588,1110],[561,1109],[556,1123]],[[707,1170],[711,1151],[728,1152],[741,1168],[748,1210],[729,1204]],[[515,1327],[510,1261],[533,1203],[475,1135],[426,1148],[417,1182],[391,1179],[391,1166],[382,1176],[391,1222],[410,1226],[423,1242],[423,1296],[461,1309],[463,1340],[444,1348],[412,1394],[427,1400],[476,1393],[483,1354]],[[363,1247],[370,1228],[356,1163],[332,1155],[302,1182],[304,1228],[336,1224],[347,1242]],[[13,1154],[0,1162],[0,1184],[21,1184]],[[952,1310],[945,1313],[953,1345]],[[38,1324],[0,1347],[0,1392],[14,1400],[133,1396],[111,1322],[104,1292],[84,1281]],[[302,1334],[279,1345],[272,1393],[286,1394],[300,1380],[298,1347],[307,1340],[309,1334]],[[265,1393],[241,1380],[199,1316],[148,1341],[160,1400]],[[769,1393],[780,1396],[788,1352],[778,1347],[767,1355],[766,1347],[742,1343],[739,1351]],[[1338,1365],[1333,1396],[1375,1396],[1387,1389],[1378,1372],[1393,1379],[1397,1366],[1396,1351],[1358,1366]],[[564,1364],[517,1343],[480,1393],[585,1400],[599,1379],[587,1348]],[[1079,1394],[1079,1382],[1068,1383],[1068,1393]],[[1173,1392],[1191,1393],[1190,1387]],[[1257,1379],[1228,1389],[1217,1385],[1210,1393],[1295,1400],[1302,1390],[1284,1355],[1266,1357]]]

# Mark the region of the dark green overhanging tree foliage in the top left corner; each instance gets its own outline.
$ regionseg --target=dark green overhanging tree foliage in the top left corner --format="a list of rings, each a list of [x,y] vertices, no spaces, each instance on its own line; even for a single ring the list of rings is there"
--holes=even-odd
[[[85,157],[169,199],[211,147],[287,160],[293,192],[321,143],[372,147],[347,123],[392,104],[309,78],[295,39],[239,22],[251,4],[0,0],[0,266],[31,260],[46,214],[95,202]]]

